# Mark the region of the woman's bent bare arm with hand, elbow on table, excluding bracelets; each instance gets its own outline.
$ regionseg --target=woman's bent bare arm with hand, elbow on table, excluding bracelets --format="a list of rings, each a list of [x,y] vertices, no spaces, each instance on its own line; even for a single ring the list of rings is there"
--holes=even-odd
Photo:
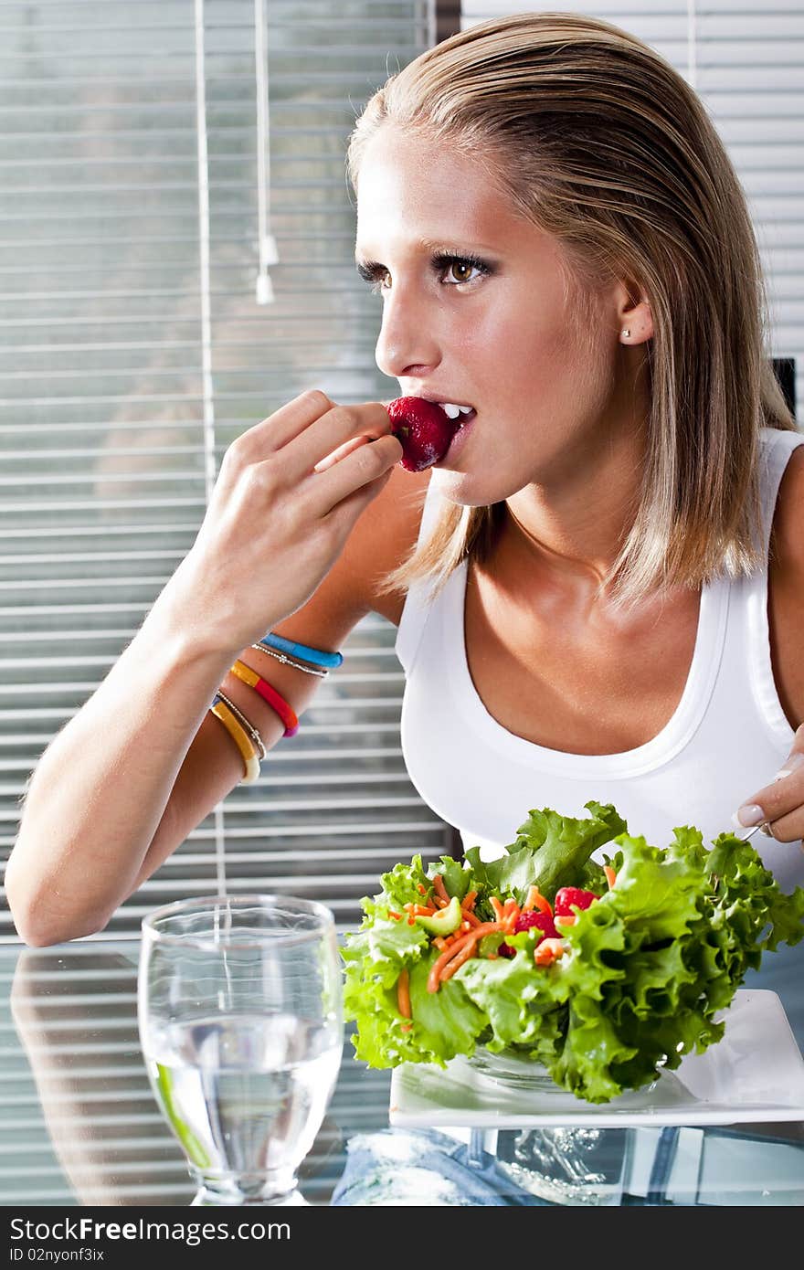
[[[268,629],[304,640],[311,622],[305,641],[337,648],[362,616],[352,566],[333,566],[399,460],[389,428],[377,404],[333,408],[314,392],[230,448],[193,549],[32,776],[5,878],[28,944],[105,926],[240,780],[231,738],[207,715],[221,682],[267,747],[279,739],[271,707],[225,679],[243,650],[304,710],[319,681],[250,644]],[[335,451],[339,461],[315,471]]]

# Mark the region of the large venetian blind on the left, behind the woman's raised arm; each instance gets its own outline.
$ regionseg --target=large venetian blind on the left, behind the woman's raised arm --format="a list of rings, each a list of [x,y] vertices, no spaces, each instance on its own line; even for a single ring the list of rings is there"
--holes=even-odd
[[[305,387],[392,395],[344,152],[432,43],[431,9],[0,0],[3,859],[39,753],[192,545],[231,441]],[[351,925],[379,872],[446,850],[401,758],[394,636],[356,629],[298,735],[100,937],[224,886],[315,895]]]

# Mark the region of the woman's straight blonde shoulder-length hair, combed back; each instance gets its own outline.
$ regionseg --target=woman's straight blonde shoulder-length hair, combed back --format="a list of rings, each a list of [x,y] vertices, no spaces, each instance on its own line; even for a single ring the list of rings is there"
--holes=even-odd
[[[766,347],[746,197],[682,76],[610,23],[521,14],[452,36],[373,94],[349,140],[356,190],[366,144],[385,122],[485,161],[513,206],[563,246],[568,288],[592,295],[629,279],[650,302],[645,466],[605,579],[612,597],[627,603],[756,568],[758,432],[795,423]],[[504,503],[446,503],[384,588],[429,579],[436,593],[464,559],[488,558],[504,514]]]

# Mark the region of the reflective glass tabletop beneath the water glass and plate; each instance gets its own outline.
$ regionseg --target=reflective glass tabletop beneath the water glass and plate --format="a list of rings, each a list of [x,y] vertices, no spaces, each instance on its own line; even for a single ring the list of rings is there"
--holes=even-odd
[[[137,1030],[137,941],[0,947],[0,1204],[189,1205]],[[389,1125],[391,1077],[349,1038],[300,1172],[310,1204],[804,1201],[800,1120],[479,1129]]]

